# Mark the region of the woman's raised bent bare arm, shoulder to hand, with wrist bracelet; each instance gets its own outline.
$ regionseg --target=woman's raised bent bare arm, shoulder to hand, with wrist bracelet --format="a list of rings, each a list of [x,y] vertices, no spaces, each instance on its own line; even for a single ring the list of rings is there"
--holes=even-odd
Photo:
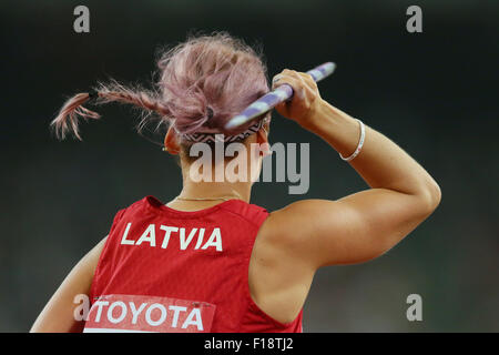
[[[319,135],[342,156],[353,154],[359,122],[324,101],[308,74],[285,70],[274,79],[274,87],[282,83],[291,84],[295,95],[277,111]],[[440,189],[428,172],[367,125],[364,146],[349,164],[371,189],[337,201],[298,201],[271,213],[266,222],[271,239],[310,267],[360,263],[384,254],[440,202]]]

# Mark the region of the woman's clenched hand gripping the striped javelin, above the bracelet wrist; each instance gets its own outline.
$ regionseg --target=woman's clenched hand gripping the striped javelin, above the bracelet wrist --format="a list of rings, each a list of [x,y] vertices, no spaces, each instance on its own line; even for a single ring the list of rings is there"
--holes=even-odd
[[[275,75],[272,81],[272,90],[282,84],[293,88],[294,95],[289,101],[275,106],[277,112],[305,129],[310,129],[323,99],[317,89],[317,83],[310,74],[285,69]]]

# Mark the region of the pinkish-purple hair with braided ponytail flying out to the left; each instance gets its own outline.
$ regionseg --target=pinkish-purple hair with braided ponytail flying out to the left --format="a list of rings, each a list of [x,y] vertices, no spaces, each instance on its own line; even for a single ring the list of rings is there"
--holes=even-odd
[[[173,125],[179,133],[215,129],[237,134],[255,121],[233,132],[225,132],[225,123],[269,91],[262,55],[226,32],[190,37],[163,52],[157,67],[160,79],[155,90],[128,88],[116,81],[101,83],[94,89],[95,104],[113,101],[134,104],[146,113],[156,113],[160,123]],[[79,93],[63,104],[51,123],[59,139],[73,133],[81,140],[79,118],[100,118],[83,106],[89,99],[89,93]],[[150,118],[146,114],[142,119],[139,131]]]

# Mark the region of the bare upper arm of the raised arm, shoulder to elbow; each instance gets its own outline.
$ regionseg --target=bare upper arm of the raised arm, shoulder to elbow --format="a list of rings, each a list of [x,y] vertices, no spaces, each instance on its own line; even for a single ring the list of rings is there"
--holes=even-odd
[[[435,209],[421,199],[370,189],[337,201],[303,200],[273,212],[278,243],[313,267],[375,258],[409,234]]]

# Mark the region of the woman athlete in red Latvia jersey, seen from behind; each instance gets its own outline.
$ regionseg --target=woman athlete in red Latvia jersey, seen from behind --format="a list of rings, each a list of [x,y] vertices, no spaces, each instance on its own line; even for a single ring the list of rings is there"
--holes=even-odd
[[[227,33],[187,39],[165,52],[159,68],[157,90],[101,84],[70,99],[53,125],[62,138],[80,138],[78,116],[99,118],[82,106],[89,100],[157,113],[170,124],[164,150],[180,156],[183,189],[167,204],[145,196],[120,210],[32,332],[303,332],[303,305],[319,267],[380,256],[440,202],[438,184],[404,150],[322,99],[310,75],[287,69],[273,88],[286,83],[295,94],[277,112],[326,141],[370,189],[267,212],[249,203],[254,170],[243,181],[194,180],[191,148],[213,146],[216,133],[224,133],[225,146],[242,143],[240,154],[259,172],[267,152],[251,146],[268,146],[269,114],[235,132],[224,126],[269,91],[266,69]]]

